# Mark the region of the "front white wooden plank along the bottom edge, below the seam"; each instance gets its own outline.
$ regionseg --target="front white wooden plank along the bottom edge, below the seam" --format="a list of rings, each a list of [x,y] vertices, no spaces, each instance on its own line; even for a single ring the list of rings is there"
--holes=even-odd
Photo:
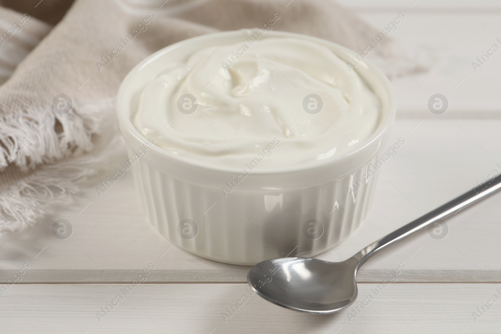
[[[143,283],[129,294],[116,284],[14,284],[0,297],[0,332],[494,333],[501,325],[501,301],[490,301],[483,314],[477,307],[493,295],[499,298],[500,287],[392,283],[376,295],[376,284],[359,284],[358,302],[369,295],[373,300],[358,313],[313,315],[252,295],[246,284]],[[118,295],[123,300],[115,302]],[[112,302],[104,313],[101,307]],[[233,303],[240,307],[229,313]],[[476,322],[473,312],[481,315]]]

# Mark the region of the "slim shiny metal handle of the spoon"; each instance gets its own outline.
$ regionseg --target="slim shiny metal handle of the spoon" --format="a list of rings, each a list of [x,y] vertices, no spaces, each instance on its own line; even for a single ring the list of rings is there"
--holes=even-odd
[[[451,214],[456,214],[461,208],[478,202],[479,200],[493,194],[501,189],[501,175],[494,177],[492,181],[486,181],[482,185],[467,191],[459,197],[443,204],[433,211],[411,221],[407,225],[391,232],[381,239],[371,243],[355,255],[348,262],[353,263],[358,269],[365,261],[379,250],[400,241],[414,232],[432,224],[433,222],[445,218]]]

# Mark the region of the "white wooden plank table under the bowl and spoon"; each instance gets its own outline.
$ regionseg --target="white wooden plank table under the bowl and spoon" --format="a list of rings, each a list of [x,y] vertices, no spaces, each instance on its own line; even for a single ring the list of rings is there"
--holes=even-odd
[[[393,36],[410,48],[432,47],[438,58],[430,73],[393,82],[399,108],[387,146],[398,138],[405,144],[378,171],[373,206],[362,226],[318,256],[333,261],[463,193],[493,170],[501,174],[501,51],[477,72],[471,66],[501,37],[501,6],[419,0],[410,8],[413,0],[369,2],[368,10],[364,1],[339,3],[381,29],[404,12],[406,19]],[[428,110],[428,99],[436,93],[449,101],[445,114]],[[125,160],[125,152],[114,153],[110,170]],[[245,283],[248,267],[223,265],[172,246],[144,218],[132,175],[98,197],[101,178],[89,181],[82,196],[37,225],[0,236],[0,282],[21,279],[0,286],[0,333],[501,331],[501,301],[493,300],[493,295],[501,298],[501,194],[448,219],[444,238],[424,231],[365,264],[357,277],[358,300],[369,294],[374,300],[359,313],[348,309],[320,316],[252,296]],[[71,222],[70,238],[53,235],[58,219]],[[124,293],[149,263],[154,270],[146,281]],[[401,263],[405,269],[397,281],[376,296],[376,285]],[[23,265],[29,269],[16,275]],[[123,300],[108,306],[119,294]],[[243,295],[249,300],[228,313]]]

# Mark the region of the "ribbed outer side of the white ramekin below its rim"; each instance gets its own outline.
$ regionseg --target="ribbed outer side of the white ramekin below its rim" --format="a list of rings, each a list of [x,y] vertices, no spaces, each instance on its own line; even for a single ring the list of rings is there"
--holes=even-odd
[[[220,188],[177,179],[141,159],[133,174],[149,221],[173,244],[214,261],[252,265],[314,256],[346,239],[370,204],[375,176],[353,187],[369,164],[307,189],[235,189],[226,197]]]

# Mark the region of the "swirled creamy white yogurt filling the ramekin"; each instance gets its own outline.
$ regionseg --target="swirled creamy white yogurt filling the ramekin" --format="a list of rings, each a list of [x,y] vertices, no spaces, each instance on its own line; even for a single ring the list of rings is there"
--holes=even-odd
[[[333,51],[307,38],[246,38],[255,33],[165,62],[140,92],[138,131],[174,155],[238,169],[255,158],[259,168],[329,159],[375,132],[379,99]]]

